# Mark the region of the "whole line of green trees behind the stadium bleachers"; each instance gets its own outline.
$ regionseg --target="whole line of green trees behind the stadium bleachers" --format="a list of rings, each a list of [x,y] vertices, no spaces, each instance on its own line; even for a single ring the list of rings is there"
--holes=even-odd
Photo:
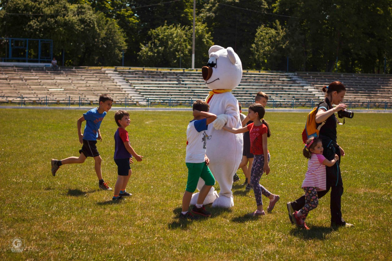
[[[390,72],[391,2],[196,0],[195,67],[217,44],[244,69]],[[192,22],[193,0],[0,2],[0,36],[52,39],[66,65],[191,67]]]

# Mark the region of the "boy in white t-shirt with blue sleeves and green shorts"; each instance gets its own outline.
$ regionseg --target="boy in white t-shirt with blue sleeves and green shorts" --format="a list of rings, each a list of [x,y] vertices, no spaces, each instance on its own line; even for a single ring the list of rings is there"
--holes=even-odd
[[[209,113],[210,105],[202,100],[193,103],[193,120],[188,124],[187,128],[187,149],[185,164],[188,168],[187,188],[182,198],[182,212],[180,219],[198,219],[200,216],[209,217],[211,213],[205,210],[203,202],[211,187],[215,185],[214,176],[208,164],[210,160],[205,155],[208,125],[216,119],[216,115]],[[200,190],[196,205],[189,212],[189,203],[192,194],[196,190],[199,178],[205,182]],[[196,215],[195,215],[196,214]]]

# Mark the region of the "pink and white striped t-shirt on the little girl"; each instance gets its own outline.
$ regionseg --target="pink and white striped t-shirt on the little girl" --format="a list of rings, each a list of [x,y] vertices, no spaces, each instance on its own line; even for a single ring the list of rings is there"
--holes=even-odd
[[[323,165],[325,157],[322,154],[310,155],[308,161],[308,171],[305,173],[305,179],[301,188],[316,187],[317,191],[326,189],[326,173],[325,165]]]

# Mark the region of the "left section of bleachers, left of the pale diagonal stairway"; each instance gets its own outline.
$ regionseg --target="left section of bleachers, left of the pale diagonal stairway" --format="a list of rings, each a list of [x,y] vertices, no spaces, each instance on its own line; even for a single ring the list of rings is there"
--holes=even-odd
[[[99,94],[110,93],[124,99],[127,93],[101,69],[62,69],[0,67],[0,101],[18,102],[23,95],[29,103],[97,103]],[[128,97],[131,99],[131,97]]]

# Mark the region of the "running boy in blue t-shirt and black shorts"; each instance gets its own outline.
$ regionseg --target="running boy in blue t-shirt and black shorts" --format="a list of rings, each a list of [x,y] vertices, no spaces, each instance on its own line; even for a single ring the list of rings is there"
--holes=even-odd
[[[78,135],[79,142],[83,144],[79,150],[79,157],[69,157],[62,160],[52,159],[52,175],[55,176],[58,168],[64,164],[83,163],[87,157],[93,157],[95,161],[95,172],[99,180],[99,187],[103,190],[112,190],[102,178],[101,163],[102,158],[97,150],[97,140],[102,141],[101,132],[99,130],[103,117],[112,108],[113,98],[109,94],[102,94],[99,97],[99,107],[91,109],[78,119]],[[86,121],[86,126],[82,134],[82,122]]]

